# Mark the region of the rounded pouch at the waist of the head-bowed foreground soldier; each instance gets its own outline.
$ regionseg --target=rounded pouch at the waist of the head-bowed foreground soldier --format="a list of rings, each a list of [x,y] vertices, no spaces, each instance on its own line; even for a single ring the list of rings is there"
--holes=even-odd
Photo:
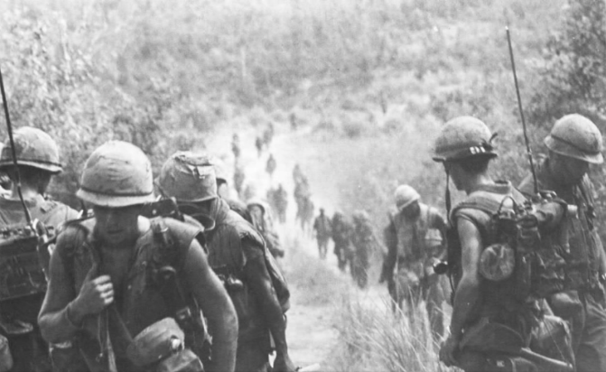
[[[126,355],[135,366],[154,372],[203,372],[200,358],[184,349],[184,338],[177,322],[164,318],[142,330]]]

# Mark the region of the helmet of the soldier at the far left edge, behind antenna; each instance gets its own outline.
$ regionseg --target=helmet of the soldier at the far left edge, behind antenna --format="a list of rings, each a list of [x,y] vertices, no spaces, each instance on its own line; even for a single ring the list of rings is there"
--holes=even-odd
[[[62,171],[59,163],[59,147],[50,135],[32,126],[14,131],[14,153],[18,165],[27,165],[56,174]],[[13,166],[13,148],[10,140],[0,154],[0,169]]]

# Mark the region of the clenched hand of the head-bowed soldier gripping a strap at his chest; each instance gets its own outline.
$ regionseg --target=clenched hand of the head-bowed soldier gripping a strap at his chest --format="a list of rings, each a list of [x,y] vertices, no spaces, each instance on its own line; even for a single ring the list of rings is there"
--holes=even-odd
[[[78,297],[72,303],[72,311],[80,316],[98,314],[114,302],[114,285],[109,275],[97,276],[98,265],[93,265],[84,278]]]

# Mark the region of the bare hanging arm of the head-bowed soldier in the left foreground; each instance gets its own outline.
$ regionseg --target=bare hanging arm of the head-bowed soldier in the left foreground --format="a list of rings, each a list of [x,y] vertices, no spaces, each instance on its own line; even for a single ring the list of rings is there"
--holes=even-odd
[[[191,242],[183,270],[212,335],[212,366],[205,366],[206,370],[233,371],[236,367],[238,316],[197,240]]]

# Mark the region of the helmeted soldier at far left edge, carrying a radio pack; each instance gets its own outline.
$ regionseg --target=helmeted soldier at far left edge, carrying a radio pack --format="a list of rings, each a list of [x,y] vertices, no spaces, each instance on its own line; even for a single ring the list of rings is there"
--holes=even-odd
[[[21,191],[32,219],[47,227],[60,230],[78,212],[58,201],[46,198],[46,189],[54,174],[61,172],[59,148],[50,135],[30,126],[14,132],[14,150],[21,179]],[[10,142],[7,140],[0,155],[0,172],[6,172],[12,180],[9,194],[0,196],[0,227],[24,226],[27,221],[23,204],[19,199],[16,170]],[[14,270],[18,269],[13,267]],[[50,370],[48,348],[38,328],[38,312],[42,307],[44,293],[31,294],[2,302],[1,317],[3,333],[8,336],[13,354],[14,371]],[[23,330],[29,330],[23,335]],[[69,345],[63,345],[69,346]],[[59,350],[52,348],[52,354]],[[56,350],[56,351],[54,351]]]

